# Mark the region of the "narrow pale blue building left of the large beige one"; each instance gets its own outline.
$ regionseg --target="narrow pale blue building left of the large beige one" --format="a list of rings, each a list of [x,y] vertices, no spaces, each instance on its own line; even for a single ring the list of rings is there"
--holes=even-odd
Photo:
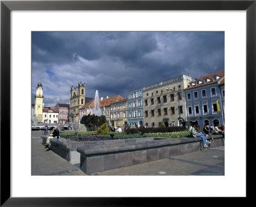
[[[129,126],[133,125],[134,127],[143,127],[144,111],[142,89],[138,89],[128,93],[127,119]]]

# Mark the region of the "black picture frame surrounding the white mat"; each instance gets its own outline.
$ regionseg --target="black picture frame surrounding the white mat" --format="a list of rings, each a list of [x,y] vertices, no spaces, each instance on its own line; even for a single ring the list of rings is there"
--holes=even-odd
[[[137,197],[10,197],[10,12],[12,10],[245,10],[246,11],[246,198],[255,183],[250,153],[255,151],[256,0],[252,1],[1,1],[1,206],[146,206]],[[250,109],[250,110],[248,110]],[[250,135],[253,132],[253,135]],[[241,139],[244,139],[241,134]],[[239,149],[238,149],[239,150]],[[239,166],[237,166],[239,167]],[[200,185],[200,184],[199,184]],[[253,188],[252,188],[253,189]],[[210,194],[210,193],[209,193]]]

